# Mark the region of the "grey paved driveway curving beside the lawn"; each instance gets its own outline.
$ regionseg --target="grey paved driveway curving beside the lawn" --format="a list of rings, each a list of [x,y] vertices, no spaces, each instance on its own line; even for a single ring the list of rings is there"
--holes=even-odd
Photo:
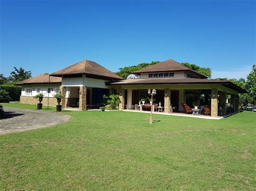
[[[4,111],[8,113],[8,116],[0,118],[0,135],[46,128],[72,119],[70,115],[49,111],[8,107],[4,107]]]

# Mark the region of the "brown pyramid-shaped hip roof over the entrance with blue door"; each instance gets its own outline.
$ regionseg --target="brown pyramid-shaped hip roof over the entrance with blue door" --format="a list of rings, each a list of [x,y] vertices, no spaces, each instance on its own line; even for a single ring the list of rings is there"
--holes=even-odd
[[[123,80],[122,77],[114,74],[110,70],[100,66],[98,63],[90,61],[90,60],[83,60],[74,65],[61,69],[55,73],[50,74],[51,76],[65,76],[65,75],[75,75],[75,74],[90,74],[96,76],[103,76],[109,79],[114,80]]]

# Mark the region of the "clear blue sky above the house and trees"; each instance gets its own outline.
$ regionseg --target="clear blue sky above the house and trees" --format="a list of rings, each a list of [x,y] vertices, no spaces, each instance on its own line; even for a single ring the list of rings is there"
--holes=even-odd
[[[1,1],[0,73],[32,75],[78,61],[116,72],[173,59],[246,77],[255,59],[255,1]]]

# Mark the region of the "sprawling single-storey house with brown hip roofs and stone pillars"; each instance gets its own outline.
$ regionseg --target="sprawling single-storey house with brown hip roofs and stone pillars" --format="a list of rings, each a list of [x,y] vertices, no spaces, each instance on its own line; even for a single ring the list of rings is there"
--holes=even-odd
[[[50,75],[43,74],[20,82],[21,103],[35,104],[28,97],[41,89],[45,93],[45,100],[51,100],[59,90],[65,95],[65,99],[62,99],[64,108],[86,110],[98,108],[104,94],[118,93],[121,101],[119,109],[133,110],[137,109],[141,98],[148,97],[148,89],[156,89],[154,103],[161,103],[166,113],[171,110],[186,112],[184,105],[193,107],[197,104],[207,105],[211,116],[216,117],[226,115],[227,97],[232,112],[238,111],[238,93],[246,92],[230,81],[207,79],[171,59],[139,69],[133,74],[134,77],[124,80],[96,62],[83,60]],[[48,101],[48,104],[55,106],[56,102]]]

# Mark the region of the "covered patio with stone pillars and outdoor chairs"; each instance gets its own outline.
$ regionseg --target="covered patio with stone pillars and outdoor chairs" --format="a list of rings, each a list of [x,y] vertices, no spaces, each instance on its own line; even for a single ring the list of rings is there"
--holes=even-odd
[[[154,80],[154,83],[149,83]],[[239,96],[243,90],[233,83],[206,79],[137,79],[116,82],[121,104],[119,109],[150,111],[148,89],[156,89],[153,97],[153,112],[197,117],[225,117],[238,112]],[[147,82],[143,84],[143,82]],[[159,83],[157,83],[159,81]],[[173,83],[174,81],[174,83]],[[136,84],[138,82],[139,84]],[[161,84],[160,84],[161,83]],[[144,103],[143,103],[143,102]]]

